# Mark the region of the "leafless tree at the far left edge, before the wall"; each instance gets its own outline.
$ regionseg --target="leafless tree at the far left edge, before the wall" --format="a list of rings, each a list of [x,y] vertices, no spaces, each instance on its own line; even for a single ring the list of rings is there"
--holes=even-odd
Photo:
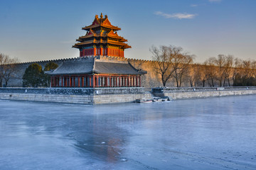
[[[14,77],[16,72],[16,65],[18,59],[11,58],[8,55],[0,54],[0,86],[5,81],[5,86],[7,86],[9,79]]]

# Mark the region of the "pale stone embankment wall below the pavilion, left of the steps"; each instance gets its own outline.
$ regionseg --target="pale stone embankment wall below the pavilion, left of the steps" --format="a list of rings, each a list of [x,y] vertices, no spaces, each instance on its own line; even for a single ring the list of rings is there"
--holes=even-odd
[[[78,104],[125,103],[150,99],[144,88],[0,88],[0,99]]]

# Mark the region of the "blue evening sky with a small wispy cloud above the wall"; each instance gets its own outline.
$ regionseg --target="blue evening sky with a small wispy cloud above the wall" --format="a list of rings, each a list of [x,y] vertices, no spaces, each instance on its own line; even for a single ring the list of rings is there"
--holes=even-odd
[[[132,49],[151,60],[151,45],[176,45],[196,62],[218,54],[256,60],[255,0],[0,1],[0,52],[21,62],[78,57],[72,48],[102,12]]]

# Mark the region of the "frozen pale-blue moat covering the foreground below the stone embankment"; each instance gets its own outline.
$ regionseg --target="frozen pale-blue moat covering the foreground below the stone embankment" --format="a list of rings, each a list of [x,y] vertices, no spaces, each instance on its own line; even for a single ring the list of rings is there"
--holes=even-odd
[[[0,169],[256,169],[256,96],[0,101]]]

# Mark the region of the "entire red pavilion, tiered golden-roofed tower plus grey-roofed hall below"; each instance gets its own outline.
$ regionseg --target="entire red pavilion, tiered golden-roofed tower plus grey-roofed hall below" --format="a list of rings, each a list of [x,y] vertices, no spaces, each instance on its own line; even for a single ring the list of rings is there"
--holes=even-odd
[[[127,40],[117,35],[107,16],[95,16],[92,25],[82,28],[86,35],[73,45],[80,50],[80,58],[63,61],[50,72],[52,87],[139,87],[141,69],[135,69],[128,61],[102,60],[102,57],[124,57],[124,49],[130,48]]]

